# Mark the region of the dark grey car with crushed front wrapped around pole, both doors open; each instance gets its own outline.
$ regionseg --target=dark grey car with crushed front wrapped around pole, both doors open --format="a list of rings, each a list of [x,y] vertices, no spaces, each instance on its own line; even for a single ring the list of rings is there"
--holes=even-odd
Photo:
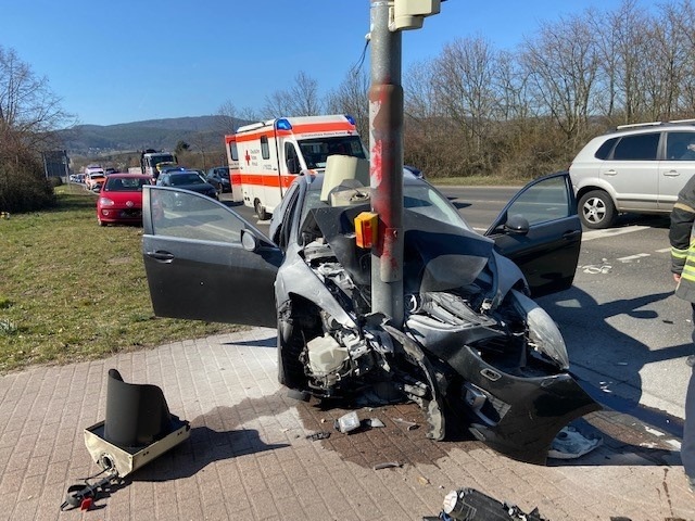
[[[354,218],[369,188],[300,176],[270,238],[222,203],[147,187],[143,258],[159,316],[277,327],[280,383],[321,399],[413,401],[444,440],[464,425],[544,463],[557,433],[599,406],[569,373],[563,336],[531,298],[571,285],[581,225],[567,173],[529,183],[483,237],[404,176],[404,320],[371,310],[371,252]]]

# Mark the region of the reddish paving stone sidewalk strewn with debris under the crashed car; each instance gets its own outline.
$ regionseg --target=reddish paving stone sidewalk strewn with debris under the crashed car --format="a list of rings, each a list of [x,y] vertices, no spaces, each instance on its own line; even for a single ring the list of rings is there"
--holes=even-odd
[[[162,387],[190,439],[97,508],[61,512],[68,485],[100,470],[84,430],[104,419],[111,368]],[[276,372],[275,330],[258,328],[0,377],[0,520],[419,521],[460,487],[553,521],[695,520],[679,441],[632,417],[591,415],[604,444],[540,467],[477,441],[429,441],[413,405],[358,409],[386,427],[342,434],[333,420],[344,410],[288,397]],[[323,431],[330,437],[306,437]]]

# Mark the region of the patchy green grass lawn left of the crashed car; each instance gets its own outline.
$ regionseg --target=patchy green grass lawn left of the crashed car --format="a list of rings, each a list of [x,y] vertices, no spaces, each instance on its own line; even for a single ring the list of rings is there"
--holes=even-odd
[[[154,317],[142,228],[99,227],[80,187],[56,195],[52,211],[0,219],[0,372],[238,329]]]

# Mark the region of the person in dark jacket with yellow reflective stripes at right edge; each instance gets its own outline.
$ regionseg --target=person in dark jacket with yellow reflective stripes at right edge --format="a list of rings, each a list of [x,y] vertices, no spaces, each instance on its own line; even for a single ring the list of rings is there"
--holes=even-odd
[[[693,308],[693,344],[695,344],[695,176],[691,177],[671,212],[669,241],[671,271],[677,282],[675,295],[691,303]],[[695,355],[686,360],[691,378],[685,395],[685,424],[681,460],[692,492],[695,492]]]

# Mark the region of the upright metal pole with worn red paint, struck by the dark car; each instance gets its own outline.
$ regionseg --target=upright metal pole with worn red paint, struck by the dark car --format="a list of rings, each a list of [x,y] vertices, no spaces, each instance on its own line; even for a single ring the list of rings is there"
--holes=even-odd
[[[369,176],[379,239],[371,250],[371,309],[403,325],[403,87],[401,31],[389,30],[389,2],[371,0]]]

